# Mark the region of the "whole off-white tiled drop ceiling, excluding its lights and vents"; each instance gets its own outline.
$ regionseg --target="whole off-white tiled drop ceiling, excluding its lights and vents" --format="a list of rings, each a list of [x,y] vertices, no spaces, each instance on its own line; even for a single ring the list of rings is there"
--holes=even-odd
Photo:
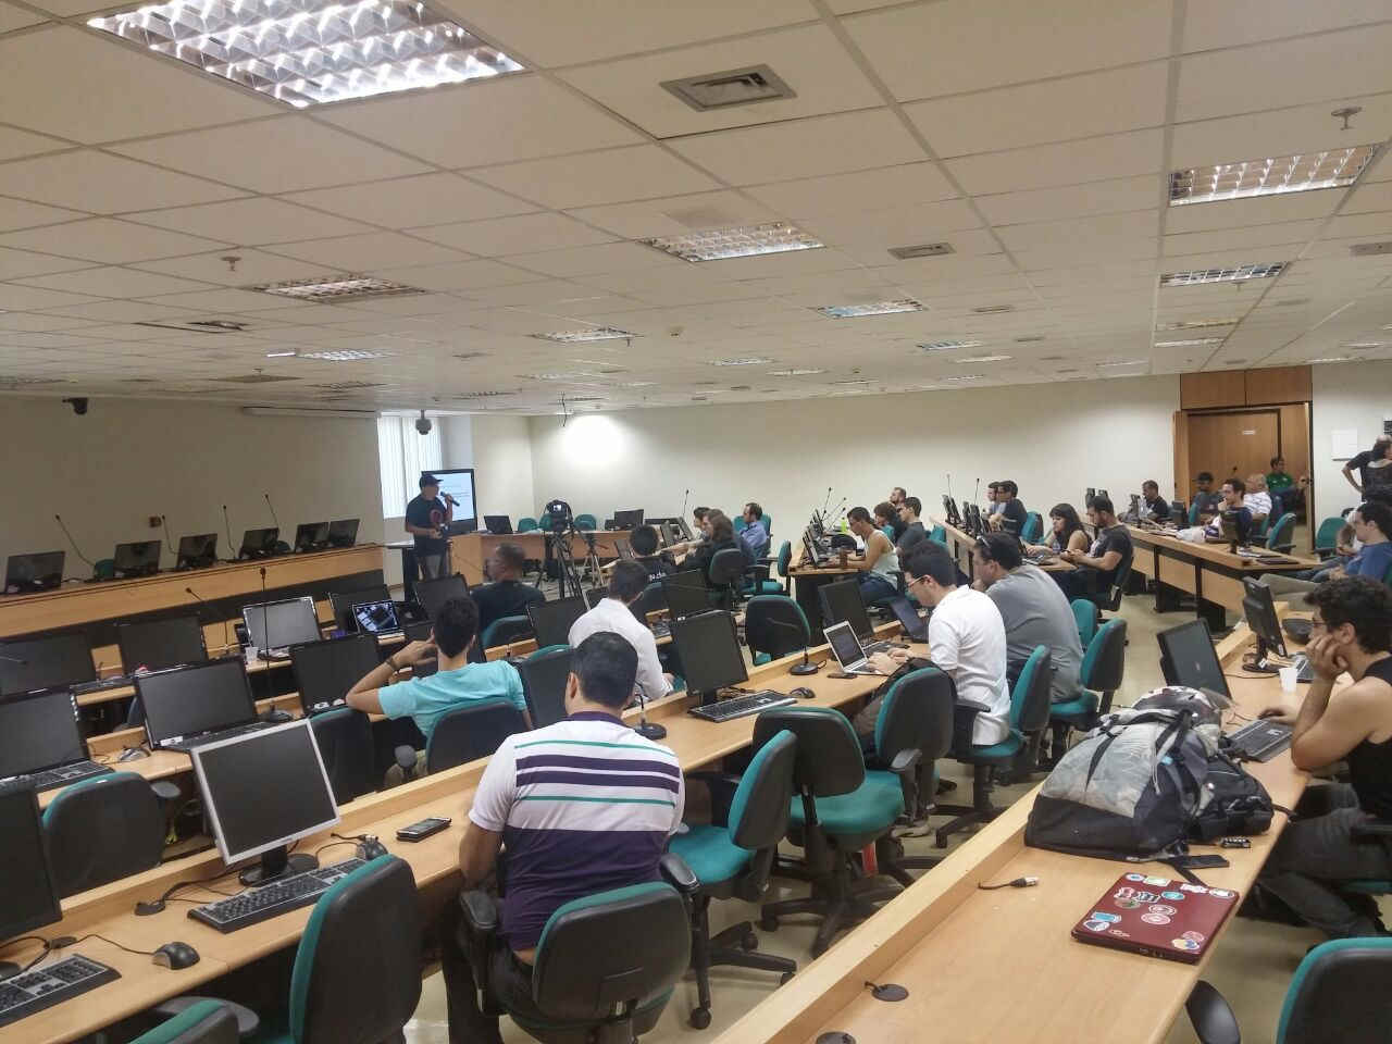
[[[299,111],[97,1],[0,0],[0,391],[539,413],[1392,358],[1392,253],[1350,253],[1392,241],[1389,0],[450,0],[526,71]],[[793,96],[660,86],[759,64]],[[1173,170],[1353,145],[1347,189],[1166,206]],[[825,248],[636,242],[777,220]],[[245,290],[334,274],[426,292]],[[245,329],[168,329],[196,320]],[[536,337],[587,327],[635,337]]]

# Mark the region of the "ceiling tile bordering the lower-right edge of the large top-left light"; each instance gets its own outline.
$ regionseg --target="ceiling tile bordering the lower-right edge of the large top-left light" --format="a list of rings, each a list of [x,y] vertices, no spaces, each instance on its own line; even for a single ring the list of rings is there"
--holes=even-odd
[[[535,75],[334,106],[323,118],[441,167],[482,167],[643,141],[597,106]]]

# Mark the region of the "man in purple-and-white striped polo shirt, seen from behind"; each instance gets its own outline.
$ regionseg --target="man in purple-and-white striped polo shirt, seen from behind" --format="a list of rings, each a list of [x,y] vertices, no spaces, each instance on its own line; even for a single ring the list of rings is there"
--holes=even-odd
[[[473,795],[459,869],[465,889],[479,888],[505,846],[504,947],[490,979],[508,1011],[532,1004],[532,962],[547,919],[572,899],[658,880],[658,856],[681,824],[677,754],[619,718],[636,675],[638,653],[624,638],[586,638],[565,683],[569,717],[503,741]],[[496,1044],[498,1020],[479,1008],[450,910],[443,965],[451,1044]]]

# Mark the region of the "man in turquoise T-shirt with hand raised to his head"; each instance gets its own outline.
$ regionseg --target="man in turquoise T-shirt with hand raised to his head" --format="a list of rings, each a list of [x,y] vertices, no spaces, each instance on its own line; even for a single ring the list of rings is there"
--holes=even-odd
[[[455,707],[475,700],[505,699],[532,724],[522,678],[507,660],[470,664],[469,647],[479,636],[479,610],[472,599],[448,599],[436,612],[427,642],[412,642],[388,656],[348,690],[348,706],[365,714],[409,717],[430,742],[436,722]],[[397,671],[438,656],[440,668],[429,678],[393,683]],[[425,771],[425,750],[416,754],[416,771]],[[400,766],[387,770],[387,785],[404,778]]]

